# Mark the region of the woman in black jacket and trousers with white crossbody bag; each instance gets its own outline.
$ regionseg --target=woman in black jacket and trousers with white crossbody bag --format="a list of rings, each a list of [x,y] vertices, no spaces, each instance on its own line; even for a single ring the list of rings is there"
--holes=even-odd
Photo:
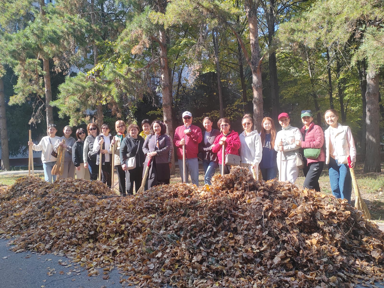
[[[125,186],[127,194],[133,194],[133,184],[135,190],[139,190],[142,181],[144,152],[142,150],[144,139],[139,135],[139,126],[131,124],[128,126],[127,132],[129,135],[122,140],[120,146],[120,161],[121,167],[125,171]],[[136,158],[136,167],[131,168],[126,164],[128,158]]]

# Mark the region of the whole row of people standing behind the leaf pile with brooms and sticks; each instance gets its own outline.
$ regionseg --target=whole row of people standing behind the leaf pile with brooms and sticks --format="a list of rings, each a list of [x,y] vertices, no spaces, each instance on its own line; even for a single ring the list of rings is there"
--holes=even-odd
[[[265,117],[259,133],[253,129],[252,116],[245,114],[242,118],[243,131],[238,134],[231,129],[228,118],[220,118],[218,129],[214,129],[212,119],[205,117],[202,121],[205,131],[202,132],[200,127],[192,124],[192,113],[185,111],[182,114],[183,125],[175,129],[173,140],[166,134],[162,121],[145,119],[141,122],[141,132],[136,124],[126,127],[124,121],[116,121],[115,136],[111,135],[108,124],[99,128],[95,123],[89,123],[87,131],[77,129],[77,141],[71,137],[70,126],[65,126],[63,136],[58,137],[56,126],[51,124],[48,136],[43,137],[39,144],[28,142],[28,145],[33,144],[33,150],[42,151],[45,180],[49,182],[56,179],[51,170],[57,160],[55,152],[60,146],[65,152],[65,169],[60,177],[74,177],[76,171],[78,178],[96,180],[101,165],[99,180],[109,187],[112,185],[111,159],[114,157],[121,195],[133,194],[134,186],[137,192],[145,174],[144,167],[147,166],[146,189],[169,184],[172,141],[176,147],[182,182],[188,182],[190,175],[192,184],[197,186],[199,159],[203,163],[205,184],[211,184],[219,166],[223,174],[228,174],[231,169],[228,163],[233,161],[252,171],[255,179],[258,179],[260,169],[264,180],[274,179],[279,174],[280,181],[293,184],[298,177],[297,158],[300,154],[304,162],[305,188],[320,191],[318,180],[325,162],[329,167],[333,195],[350,201],[352,185],[348,156],[351,157],[351,167],[356,162],[351,129],[338,123],[338,113],[333,109],[324,113],[324,120],[329,125],[324,132],[314,124],[311,110],[301,111],[301,120],[301,129],[292,127],[288,113],[281,113],[278,122],[282,129],[276,132],[273,119]]]

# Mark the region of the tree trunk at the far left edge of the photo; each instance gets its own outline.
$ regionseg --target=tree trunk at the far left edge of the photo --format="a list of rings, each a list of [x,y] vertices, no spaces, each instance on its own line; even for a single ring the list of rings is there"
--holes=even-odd
[[[1,141],[1,167],[9,170],[9,148],[7,117],[5,116],[5,92],[3,78],[0,78],[0,141]]]

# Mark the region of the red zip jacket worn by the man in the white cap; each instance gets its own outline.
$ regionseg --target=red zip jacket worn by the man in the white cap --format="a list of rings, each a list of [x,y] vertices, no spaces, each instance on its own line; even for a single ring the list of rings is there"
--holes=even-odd
[[[180,140],[185,137],[185,158],[197,158],[199,153],[199,143],[203,140],[201,129],[195,125],[190,126],[191,132],[184,134],[185,126],[179,126],[175,130],[173,143],[176,146],[177,158],[183,159],[183,146],[180,145]]]

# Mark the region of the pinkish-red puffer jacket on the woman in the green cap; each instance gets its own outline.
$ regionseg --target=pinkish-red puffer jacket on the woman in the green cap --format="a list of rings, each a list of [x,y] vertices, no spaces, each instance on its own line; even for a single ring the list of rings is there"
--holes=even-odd
[[[300,129],[301,134],[304,135],[305,126]],[[305,141],[301,142],[301,148],[320,148],[320,155],[316,159],[307,159],[307,163],[325,161],[324,132],[320,126],[311,122],[307,134],[305,134]]]

